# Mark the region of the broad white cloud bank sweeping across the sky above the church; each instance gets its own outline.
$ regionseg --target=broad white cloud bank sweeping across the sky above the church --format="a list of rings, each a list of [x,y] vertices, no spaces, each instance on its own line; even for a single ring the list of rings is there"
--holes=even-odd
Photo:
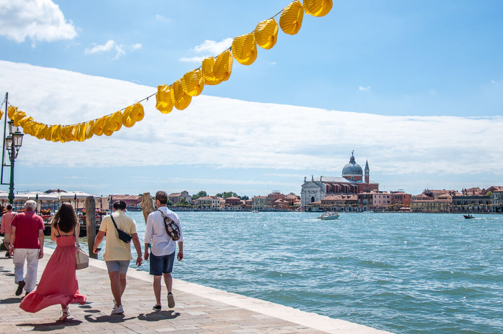
[[[13,105],[47,124],[98,118],[156,91],[28,64],[0,61],[0,68],[0,91],[9,91]],[[37,87],[37,94],[26,94],[26,87]],[[155,110],[155,99],[143,105],[144,120],[111,137],[61,144],[27,135],[19,163],[104,167],[109,161],[103,152],[121,151],[114,163],[124,166],[335,170],[326,176],[340,176],[354,149],[357,162],[368,157],[371,173],[381,176],[503,175],[503,146],[494,144],[503,141],[501,116],[382,116],[210,96],[195,97],[189,108],[168,115]]]

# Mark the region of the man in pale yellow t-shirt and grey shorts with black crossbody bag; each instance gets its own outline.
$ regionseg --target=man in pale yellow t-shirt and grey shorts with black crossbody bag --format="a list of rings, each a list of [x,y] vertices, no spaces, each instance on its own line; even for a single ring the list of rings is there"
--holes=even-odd
[[[126,273],[129,267],[129,261],[133,260],[133,255],[131,254],[131,243],[126,243],[119,239],[117,228],[132,236],[134,247],[138,253],[138,258],[136,259],[136,265],[138,267],[141,265],[143,259],[141,257],[140,239],[136,232],[136,223],[133,218],[128,217],[124,213],[126,210],[126,202],[117,201],[113,204],[113,208],[113,214],[103,217],[100,230],[96,235],[93,253],[98,254],[98,247],[103,241],[103,237],[106,236],[107,242],[103,260],[105,260],[107,264],[110,287],[112,289],[112,295],[114,296],[112,314],[123,314],[122,294],[126,289]],[[117,228],[114,225],[114,221]]]

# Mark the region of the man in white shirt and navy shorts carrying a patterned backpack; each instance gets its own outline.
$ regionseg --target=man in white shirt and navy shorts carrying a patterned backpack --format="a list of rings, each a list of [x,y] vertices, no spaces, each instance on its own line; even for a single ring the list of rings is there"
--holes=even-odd
[[[153,288],[156,301],[155,306],[152,307],[154,311],[160,311],[162,309],[160,303],[161,276],[164,277],[164,283],[167,288],[167,306],[169,308],[175,307],[175,297],[172,293],[173,277],[171,276],[171,272],[173,271],[173,262],[175,261],[177,243],[177,259],[178,261],[182,261],[184,258],[184,237],[182,234],[180,218],[175,212],[166,207],[166,203],[166,193],[158,191],[155,194],[155,206],[157,207],[157,210],[148,215],[147,224],[145,226],[144,258],[148,261],[150,256],[150,275],[153,275],[154,277]],[[167,234],[162,215],[172,219],[173,222],[177,224],[180,230],[180,239],[174,241],[171,236]],[[149,246],[150,254],[148,253]]]

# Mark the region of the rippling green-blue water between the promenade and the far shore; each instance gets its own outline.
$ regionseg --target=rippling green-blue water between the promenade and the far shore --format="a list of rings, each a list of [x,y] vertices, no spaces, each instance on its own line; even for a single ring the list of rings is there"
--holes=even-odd
[[[395,333],[503,333],[503,215],[178,214],[176,278]]]

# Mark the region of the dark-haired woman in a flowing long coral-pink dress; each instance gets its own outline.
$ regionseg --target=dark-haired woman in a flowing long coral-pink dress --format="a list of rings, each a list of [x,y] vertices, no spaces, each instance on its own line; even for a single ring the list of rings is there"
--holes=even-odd
[[[23,310],[35,313],[47,306],[61,304],[63,315],[59,320],[64,321],[70,315],[69,304],[83,305],[86,302],[86,296],[78,293],[75,275],[75,235],[78,238],[79,227],[73,207],[63,203],[52,219],[51,239],[56,241],[56,249],[37,288],[19,305]]]

